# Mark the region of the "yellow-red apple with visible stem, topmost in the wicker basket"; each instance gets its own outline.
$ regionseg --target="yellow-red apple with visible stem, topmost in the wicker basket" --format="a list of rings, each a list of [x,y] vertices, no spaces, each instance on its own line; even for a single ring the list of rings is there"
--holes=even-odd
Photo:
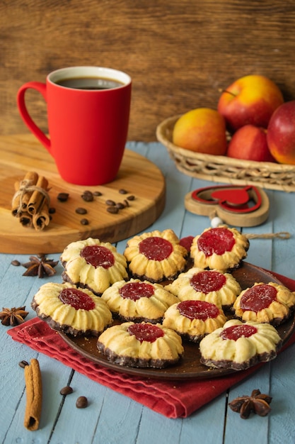
[[[282,105],[282,92],[265,76],[250,74],[233,82],[219,98],[217,110],[229,131],[251,125],[267,128],[270,117]]]

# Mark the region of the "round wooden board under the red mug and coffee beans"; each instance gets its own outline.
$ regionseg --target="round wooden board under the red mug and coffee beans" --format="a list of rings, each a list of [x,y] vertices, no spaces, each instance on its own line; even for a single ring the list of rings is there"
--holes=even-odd
[[[25,228],[11,214],[15,182],[26,172],[35,171],[46,177],[50,187],[50,207],[55,209],[49,226],[42,231]],[[127,194],[121,194],[125,189]],[[73,185],[59,176],[54,160],[33,135],[0,136],[0,252],[53,253],[62,252],[75,240],[89,237],[115,243],[143,231],[154,223],[165,206],[165,179],[153,162],[136,152],[125,150],[117,178],[110,184],[97,187]],[[99,191],[93,201],[83,201],[86,190]],[[57,199],[59,193],[69,194],[66,202]],[[105,201],[123,202],[128,196],[129,206],[117,214],[108,213]],[[83,207],[86,215],[76,213]],[[81,218],[88,225],[81,225]]]

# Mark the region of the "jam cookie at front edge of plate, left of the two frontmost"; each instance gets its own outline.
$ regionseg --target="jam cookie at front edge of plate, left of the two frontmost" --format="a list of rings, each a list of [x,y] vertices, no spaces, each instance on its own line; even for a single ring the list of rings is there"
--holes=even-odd
[[[97,346],[110,362],[127,367],[161,369],[178,362],[184,353],[178,333],[146,322],[125,322],[107,328]]]

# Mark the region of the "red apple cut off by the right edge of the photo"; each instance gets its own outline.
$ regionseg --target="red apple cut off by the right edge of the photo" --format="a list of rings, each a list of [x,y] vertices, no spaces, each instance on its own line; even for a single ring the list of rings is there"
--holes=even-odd
[[[272,114],[267,143],[277,162],[295,165],[295,100],[285,102]]]

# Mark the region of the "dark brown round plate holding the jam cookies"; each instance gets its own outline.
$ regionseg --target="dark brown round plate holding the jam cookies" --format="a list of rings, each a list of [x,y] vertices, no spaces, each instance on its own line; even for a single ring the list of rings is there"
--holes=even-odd
[[[262,268],[255,267],[255,265],[243,262],[240,268],[233,271],[233,276],[238,280],[242,289],[251,287],[255,282],[277,282],[281,284],[277,278],[275,278],[270,272],[262,270]],[[277,331],[285,343],[291,333],[294,331],[295,326],[295,314],[288,321],[284,322],[281,326],[277,327]],[[166,369],[151,369],[151,368],[135,368],[126,367],[109,362],[108,359],[98,351],[96,348],[97,338],[75,338],[71,335],[65,335],[60,333],[62,338],[68,343],[74,350],[80,353],[83,357],[87,357],[97,364],[107,367],[108,369],[115,370],[117,372],[123,372],[127,374],[133,374],[139,377],[152,377],[157,379],[204,379],[221,377],[225,374],[233,373],[235,370],[222,370],[222,369],[209,369],[205,365],[199,362],[200,353],[199,347],[196,344],[183,341],[185,348],[185,354],[178,364]]]

